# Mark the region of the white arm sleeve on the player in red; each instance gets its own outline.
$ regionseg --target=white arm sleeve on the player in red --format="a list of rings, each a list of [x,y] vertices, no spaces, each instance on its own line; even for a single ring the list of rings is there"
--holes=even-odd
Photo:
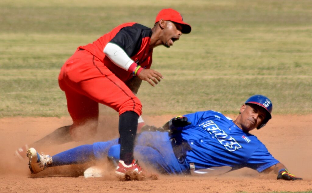
[[[116,44],[107,43],[103,52],[115,65],[124,70],[128,70],[131,64],[134,63],[127,53]]]

